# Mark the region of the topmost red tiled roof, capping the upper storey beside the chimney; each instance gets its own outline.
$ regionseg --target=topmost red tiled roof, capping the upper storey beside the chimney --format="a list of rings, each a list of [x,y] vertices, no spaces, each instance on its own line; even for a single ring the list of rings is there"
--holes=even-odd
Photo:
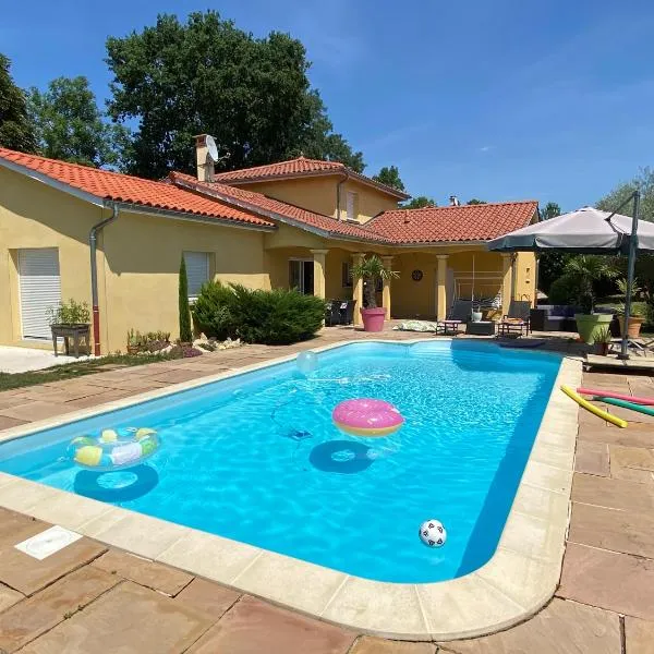
[[[275,180],[289,177],[314,177],[324,174],[347,173],[351,179],[363,182],[371,186],[375,186],[379,191],[407,199],[410,197],[402,191],[382,184],[364,174],[354,172],[340,161],[324,161],[323,159],[307,159],[306,157],[298,157],[288,161],[279,161],[278,164],[268,164],[266,166],[255,166],[253,168],[242,168],[240,170],[230,170],[220,172],[214,175],[217,182],[238,183],[238,182],[257,182],[265,180]]]

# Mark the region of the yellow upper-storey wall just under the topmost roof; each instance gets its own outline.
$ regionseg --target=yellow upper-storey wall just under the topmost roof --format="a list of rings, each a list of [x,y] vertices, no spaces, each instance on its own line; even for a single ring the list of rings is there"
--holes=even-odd
[[[250,184],[234,183],[233,185],[241,185],[243,189],[257,191],[276,199],[281,199],[289,204],[316,211],[317,214],[336,218],[338,216],[336,204],[337,185],[342,179],[342,175],[305,177]],[[343,220],[347,216],[348,191],[358,194],[355,208],[359,213],[358,220],[360,222],[370,220],[379,211],[396,209],[398,206],[396,198],[361,182],[349,180],[341,185],[341,218]]]

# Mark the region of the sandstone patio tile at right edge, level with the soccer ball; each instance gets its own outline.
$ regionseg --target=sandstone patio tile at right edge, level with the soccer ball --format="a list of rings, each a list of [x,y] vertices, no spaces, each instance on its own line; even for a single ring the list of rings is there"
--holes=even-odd
[[[576,502],[568,541],[654,559],[654,516]]]

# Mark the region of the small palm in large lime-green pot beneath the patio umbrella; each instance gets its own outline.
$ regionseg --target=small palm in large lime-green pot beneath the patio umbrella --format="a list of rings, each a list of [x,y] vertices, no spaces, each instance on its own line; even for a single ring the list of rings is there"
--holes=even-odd
[[[615,270],[605,258],[596,255],[580,254],[566,265],[569,275],[578,287],[578,302],[583,313],[574,314],[577,331],[584,343],[594,344],[600,330],[608,327],[611,314],[596,314],[593,283],[601,279],[615,277]]]

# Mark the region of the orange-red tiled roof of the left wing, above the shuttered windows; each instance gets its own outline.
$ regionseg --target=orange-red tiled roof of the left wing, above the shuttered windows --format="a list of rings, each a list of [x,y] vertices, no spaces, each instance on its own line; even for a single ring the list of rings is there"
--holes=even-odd
[[[265,218],[227,206],[205,195],[191,193],[168,182],[155,182],[88,166],[46,159],[3,147],[0,147],[0,159],[38,172],[72,189],[84,191],[98,199],[131,203],[261,227],[275,227],[274,222]]]

